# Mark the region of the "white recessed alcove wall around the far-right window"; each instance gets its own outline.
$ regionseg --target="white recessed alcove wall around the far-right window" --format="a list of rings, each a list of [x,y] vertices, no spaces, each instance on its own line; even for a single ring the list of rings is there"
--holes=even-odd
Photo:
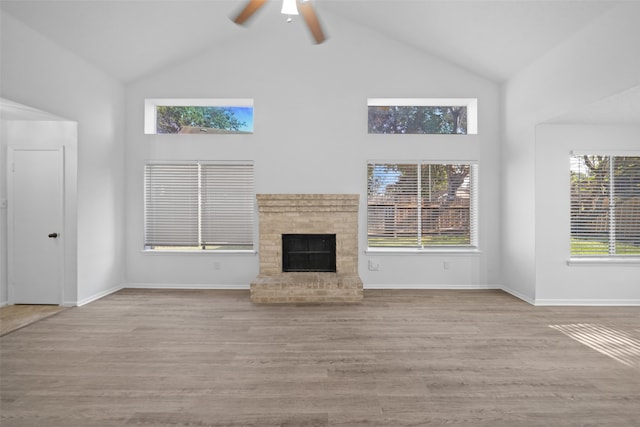
[[[640,153],[640,126],[541,125],[536,136],[536,304],[638,304],[640,263],[567,265],[569,155]]]

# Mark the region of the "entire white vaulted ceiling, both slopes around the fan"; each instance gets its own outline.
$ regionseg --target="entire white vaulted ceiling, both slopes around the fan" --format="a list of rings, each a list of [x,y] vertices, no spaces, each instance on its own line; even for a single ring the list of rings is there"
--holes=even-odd
[[[501,82],[561,43],[613,0],[313,0],[333,15]],[[279,2],[256,20],[284,25]],[[0,0],[10,13],[123,82],[232,39],[244,0]],[[258,36],[258,32],[256,32]]]

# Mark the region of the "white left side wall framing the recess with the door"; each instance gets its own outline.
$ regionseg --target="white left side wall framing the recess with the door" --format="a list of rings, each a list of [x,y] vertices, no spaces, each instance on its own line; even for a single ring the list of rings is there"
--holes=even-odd
[[[1,19],[2,97],[78,123],[77,295],[65,304],[82,304],[124,281],[124,86],[11,15]]]

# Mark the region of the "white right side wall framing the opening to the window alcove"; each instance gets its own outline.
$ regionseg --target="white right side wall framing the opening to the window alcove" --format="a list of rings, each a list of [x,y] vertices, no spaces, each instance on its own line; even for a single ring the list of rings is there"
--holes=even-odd
[[[502,282],[530,302],[546,289],[536,277],[536,229],[547,226],[536,217],[536,125],[640,84],[638,16],[639,3],[620,4],[503,85]]]

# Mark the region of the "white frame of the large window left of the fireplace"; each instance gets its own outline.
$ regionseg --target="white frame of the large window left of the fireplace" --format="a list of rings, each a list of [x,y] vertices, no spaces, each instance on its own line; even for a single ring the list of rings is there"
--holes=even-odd
[[[150,185],[148,184],[148,166],[197,166],[197,189],[195,189],[195,193],[197,193],[197,243],[194,245],[154,245],[153,242],[150,242],[148,238],[148,191]],[[245,216],[245,219],[248,220],[246,226],[250,227],[250,230],[247,232],[248,236],[250,236],[250,244],[229,244],[229,245],[217,245],[219,247],[210,247],[216,246],[211,243],[205,243],[203,238],[207,234],[205,230],[205,221],[203,216],[206,211],[206,207],[203,206],[203,201],[205,199],[204,193],[206,191],[206,186],[204,185],[204,169],[215,166],[231,166],[231,167],[242,167],[248,166],[249,170],[249,181],[248,184],[249,191],[243,194],[245,200],[251,200],[250,208],[246,208],[242,211]],[[255,204],[255,168],[254,162],[252,160],[242,160],[242,161],[215,161],[215,160],[146,160],[144,162],[144,172],[143,172],[143,235],[142,235],[142,252],[144,253],[179,253],[179,254],[222,254],[222,253],[249,253],[255,254],[256,251],[256,204]],[[234,215],[235,219],[236,216]],[[193,221],[193,218],[187,218],[187,221]],[[195,240],[194,240],[195,243]],[[204,246],[204,247],[203,247]],[[247,246],[246,248],[233,248],[232,246]]]

